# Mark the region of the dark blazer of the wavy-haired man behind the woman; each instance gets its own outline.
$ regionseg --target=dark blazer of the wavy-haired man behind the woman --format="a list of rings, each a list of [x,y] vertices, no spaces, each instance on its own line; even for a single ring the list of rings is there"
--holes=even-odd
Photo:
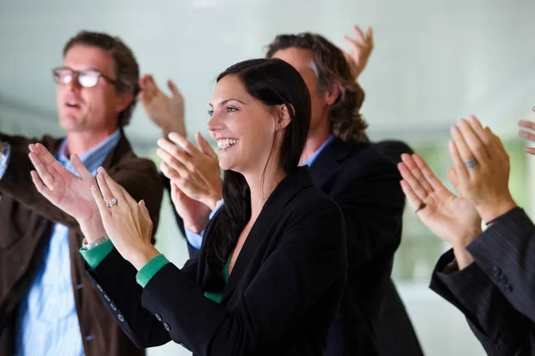
[[[410,148],[397,141],[374,145],[334,139],[311,166],[314,184],[342,209],[350,264],[326,355],[368,356],[380,354],[380,349],[383,355],[421,354],[416,334],[391,282],[405,207],[396,162],[404,152],[411,152]],[[401,344],[380,347],[378,335],[386,294],[390,302],[387,310],[394,310],[394,317],[386,320],[382,328],[391,330],[389,342],[401,339]],[[398,328],[407,325],[406,330]],[[407,352],[401,353],[399,348],[404,344]]]

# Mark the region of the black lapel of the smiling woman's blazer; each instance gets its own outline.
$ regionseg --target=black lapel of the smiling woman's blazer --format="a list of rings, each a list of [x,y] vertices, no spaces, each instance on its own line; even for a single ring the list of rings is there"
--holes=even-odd
[[[295,195],[308,186],[312,186],[309,168],[296,168],[279,183],[269,196],[243,244],[242,251],[238,255],[230,277],[228,277],[221,302],[225,302],[235,291],[236,286],[243,277],[243,273],[245,273],[257,253],[259,244],[265,237],[269,237],[266,235],[271,231],[271,226],[278,222],[276,220],[277,215],[284,210],[284,206],[292,201]]]

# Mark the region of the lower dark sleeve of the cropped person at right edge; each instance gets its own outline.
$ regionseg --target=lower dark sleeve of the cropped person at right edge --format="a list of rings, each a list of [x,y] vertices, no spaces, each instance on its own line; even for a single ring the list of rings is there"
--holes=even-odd
[[[465,314],[474,335],[489,355],[531,355],[535,325],[507,301],[502,291],[476,264],[445,274],[452,251],[438,261],[431,289]]]

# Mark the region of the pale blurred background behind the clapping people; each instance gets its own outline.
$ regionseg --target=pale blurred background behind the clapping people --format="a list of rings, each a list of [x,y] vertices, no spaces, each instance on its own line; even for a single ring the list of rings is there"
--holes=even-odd
[[[374,53],[359,78],[370,137],[405,140],[446,179],[449,127],[473,113],[504,138],[514,198],[533,216],[535,158],[523,153],[516,121],[535,120],[534,15],[533,0],[0,0],[0,131],[62,135],[51,70],[80,29],[121,37],[166,90],[173,79],[191,138],[207,134],[218,73],[262,57],[276,34],[312,31],[346,48],[353,24],[373,26]],[[161,132],[141,108],[127,134],[136,153],[157,161]],[[170,209],[166,196],[157,247],[180,266],[185,240]],[[394,279],[426,355],[483,355],[461,313],[427,287],[447,248],[407,209]],[[167,344],[148,354],[189,353]]]

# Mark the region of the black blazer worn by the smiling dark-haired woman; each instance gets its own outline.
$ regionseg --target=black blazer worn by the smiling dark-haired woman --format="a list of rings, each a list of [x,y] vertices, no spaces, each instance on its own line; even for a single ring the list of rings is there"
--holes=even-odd
[[[194,260],[183,269],[167,264],[144,289],[115,250],[89,273],[140,347],[172,339],[197,355],[321,355],[346,280],[346,256],[339,207],[312,185],[308,168],[299,168],[269,196],[220,304],[204,297],[210,281],[205,264]]]

